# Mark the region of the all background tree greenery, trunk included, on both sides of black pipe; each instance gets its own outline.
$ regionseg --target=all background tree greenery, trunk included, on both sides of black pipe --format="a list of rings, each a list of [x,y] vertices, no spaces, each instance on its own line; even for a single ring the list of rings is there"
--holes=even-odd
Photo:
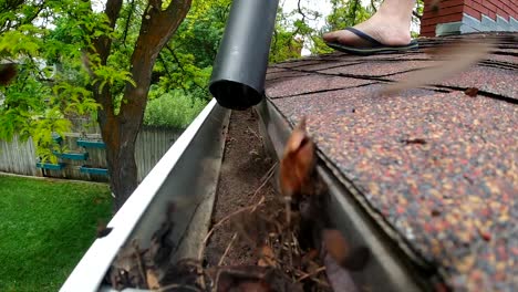
[[[380,2],[330,1],[324,28],[315,25],[321,12],[301,1],[293,11],[279,9],[269,61],[331,52],[321,34],[367,19]],[[231,2],[0,1],[0,62],[18,63],[15,81],[0,86],[0,139],[32,137],[40,158],[55,163],[52,134],[68,132],[68,118],[91,116],[107,145],[118,208],[136,187],[142,123],[166,121],[158,117],[167,107],[179,107],[172,100],[190,101],[175,113],[193,118],[210,98],[207,84]],[[146,112],[148,100],[157,102]],[[188,119],[167,121],[185,126]]]

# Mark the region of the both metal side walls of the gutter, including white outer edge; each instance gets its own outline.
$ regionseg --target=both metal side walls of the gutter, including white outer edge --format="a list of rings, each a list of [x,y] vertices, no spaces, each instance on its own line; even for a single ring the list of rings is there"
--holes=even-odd
[[[280,158],[292,127],[268,100],[256,109],[266,146],[273,157]],[[114,216],[107,225],[113,229],[111,233],[95,240],[61,291],[113,291],[102,286],[102,281],[117,252],[133,241],[147,248],[165,220],[168,202],[177,207],[172,240],[178,248],[170,260],[197,257],[209,228],[229,113],[216,100],[207,105]],[[354,186],[321,153],[318,171],[329,187],[332,201],[329,211],[335,225],[352,247],[371,250],[367,265],[351,272],[358,286],[369,291],[434,290],[436,271],[395,241],[396,234],[390,233],[390,229],[380,226],[381,219],[374,219]]]

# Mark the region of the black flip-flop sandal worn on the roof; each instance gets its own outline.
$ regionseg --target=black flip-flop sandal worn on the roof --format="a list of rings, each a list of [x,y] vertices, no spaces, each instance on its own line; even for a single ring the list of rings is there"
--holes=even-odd
[[[404,52],[408,50],[414,50],[418,48],[417,41],[412,40],[410,43],[404,45],[386,45],[376,40],[371,35],[364,33],[363,31],[356,30],[354,28],[345,28],[345,30],[356,34],[359,38],[371,43],[371,46],[351,46],[336,42],[327,42],[328,46],[333,48],[336,51],[356,54],[356,55],[371,55],[377,53],[393,53],[393,52]]]

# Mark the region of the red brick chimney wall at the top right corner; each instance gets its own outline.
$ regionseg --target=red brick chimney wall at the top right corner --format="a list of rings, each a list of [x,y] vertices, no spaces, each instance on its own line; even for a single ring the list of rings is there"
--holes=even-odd
[[[432,0],[425,0],[421,20],[421,35],[435,36],[438,23],[460,21],[463,13],[480,20],[481,14],[496,20],[500,15],[509,21],[509,17],[518,19],[518,0],[442,0],[438,9],[432,8]]]

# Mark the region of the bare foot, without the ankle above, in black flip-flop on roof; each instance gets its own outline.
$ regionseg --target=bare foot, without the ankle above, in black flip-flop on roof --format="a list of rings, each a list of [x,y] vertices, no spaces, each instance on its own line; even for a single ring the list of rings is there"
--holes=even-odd
[[[397,18],[383,17],[376,13],[369,20],[354,25],[354,28],[385,45],[405,45],[411,42],[410,23]],[[351,46],[372,45],[369,41],[346,30],[329,32],[323,34],[322,38],[325,42]]]

